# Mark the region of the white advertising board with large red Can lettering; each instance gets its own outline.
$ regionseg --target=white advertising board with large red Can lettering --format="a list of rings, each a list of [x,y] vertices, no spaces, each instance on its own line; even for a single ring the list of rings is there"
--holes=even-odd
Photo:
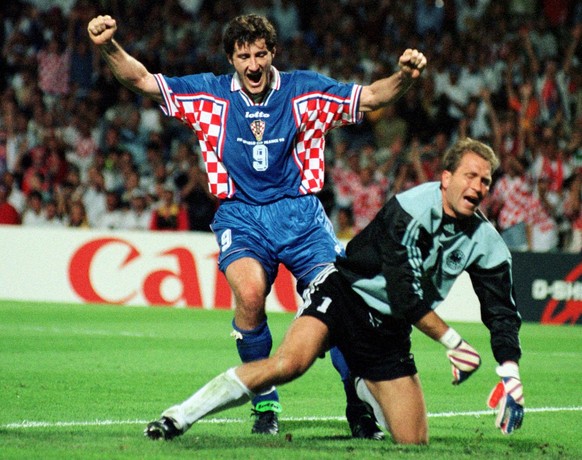
[[[2,299],[206,309],[234,305],[210,233],[0,225],[0,257]],[[298,305],[295,279],[281,266],[267,309],[296,311]]]

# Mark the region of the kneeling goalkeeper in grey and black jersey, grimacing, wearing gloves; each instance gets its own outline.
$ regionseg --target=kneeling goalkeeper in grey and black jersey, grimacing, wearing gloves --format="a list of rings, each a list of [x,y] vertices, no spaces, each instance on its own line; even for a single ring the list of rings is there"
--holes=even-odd
[[[428,443],[424,396],[410,334],[415,326],[447,349],[453,384],[481,364],[478,352],[434,311],[466,271],[491,333],[501,380],[489,403],[505,434],[521,426],[521,318],[513,297],[511,254],[478,206],[499,161],[478,141],[458,141],[445,155],[440,182],[396,195],[322,272],[283,343],[270,358],[219,375],[151,422],[146,436],[171,439],[200,418],[240,405],[272,385],[301,376],[332,346],[344,354],[358,396],[392,439]]]

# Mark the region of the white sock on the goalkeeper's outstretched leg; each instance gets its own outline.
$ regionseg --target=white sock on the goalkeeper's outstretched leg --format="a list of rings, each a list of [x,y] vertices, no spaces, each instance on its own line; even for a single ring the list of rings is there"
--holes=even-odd
[[[254,397],[238,378],[235,368],[214,377],[182,404],[162,413],[176,422],[176,428],[185,432],[202,417],[231,407],[241,406]]]

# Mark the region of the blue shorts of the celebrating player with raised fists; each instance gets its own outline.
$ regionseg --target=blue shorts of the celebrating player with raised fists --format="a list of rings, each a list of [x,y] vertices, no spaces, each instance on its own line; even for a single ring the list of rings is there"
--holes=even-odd
[[[345,254],[321,202],[313,195],[259,206],[225,201],[211,228],[220,248],[220,270],[252,257],[265,269],[269,288],[280,263],[295,276],[297,290],[302,292],[323,268]]]

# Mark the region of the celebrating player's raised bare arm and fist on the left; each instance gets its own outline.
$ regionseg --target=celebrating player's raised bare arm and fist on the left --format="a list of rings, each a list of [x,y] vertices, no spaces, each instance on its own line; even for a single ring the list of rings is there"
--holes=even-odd
[[[97,16],[87,26],[89,38],[119,82],[135,93],[161,102],[162,95],[154,76],[115,41],[113,36],[116,30],[117,22],[109,15]]]

